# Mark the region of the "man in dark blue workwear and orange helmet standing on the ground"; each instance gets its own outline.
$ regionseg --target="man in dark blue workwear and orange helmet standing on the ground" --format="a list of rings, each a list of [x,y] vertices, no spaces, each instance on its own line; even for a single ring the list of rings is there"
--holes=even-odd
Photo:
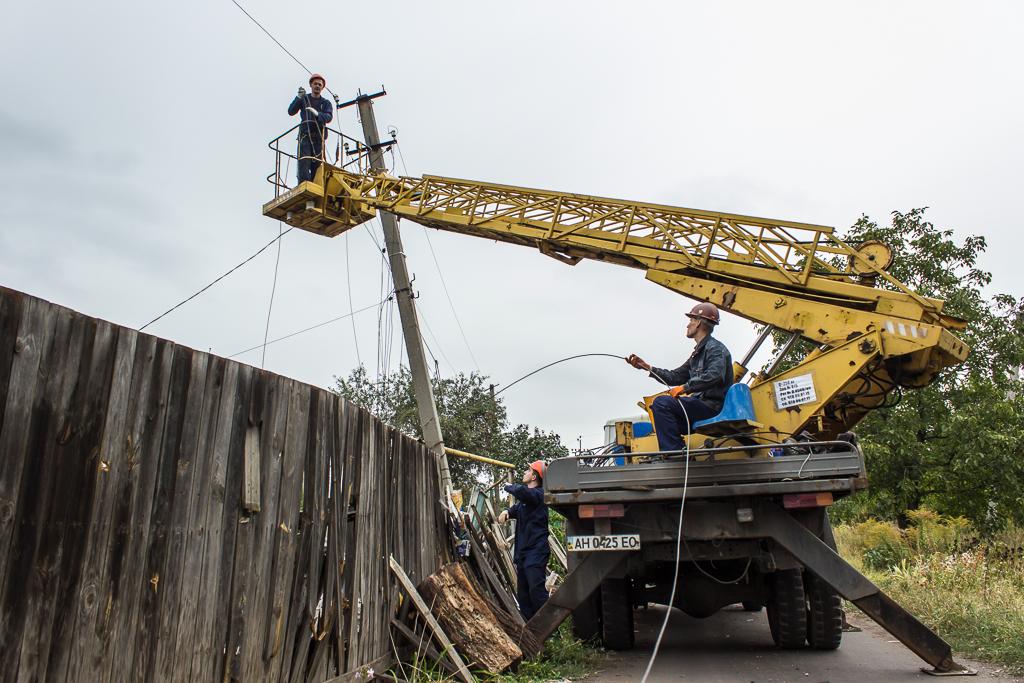
[[[548,600],[548,506],[544,503],[544,461],[529,464],[522,475],[522,483],[509,484],[505,490],[518,501],[508,510],[502,510],[498,521],[516,520],[515,553],[512,561],[516,569],[516,601],[519,611],[527,622]]]

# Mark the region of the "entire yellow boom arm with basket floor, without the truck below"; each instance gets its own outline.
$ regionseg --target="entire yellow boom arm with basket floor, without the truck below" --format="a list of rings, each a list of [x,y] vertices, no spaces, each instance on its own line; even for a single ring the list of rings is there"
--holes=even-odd
[[[640,268],[663,287],[790,333],[791,342],[813,342],[795,367],[750,382],[764,442],[804,431],[831,438],[896,387],[925,386],[970,351],[953,334],[964,323],[944,314],[941,300],[886,270],[887,246],[848,245],[824,225],[329,164],[263,206],[264,215],[327,237],[377,210],[536,247],[569,265]]]

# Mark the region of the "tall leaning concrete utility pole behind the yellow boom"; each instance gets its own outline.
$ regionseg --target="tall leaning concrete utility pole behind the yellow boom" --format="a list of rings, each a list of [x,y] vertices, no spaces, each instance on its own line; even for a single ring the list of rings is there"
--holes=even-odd
[[[370,168],[378,172],[386,171],[387,167],[384,164],[384,154],[380,144],[380,133],[377,131],[377,119],[374,117],[374,100],[369,95],[360,95],[356,97],[355,103],[359,108],[362,136],[371,150]],[[384,245],[391,263],[391,279],[394,281],[395,296],[398,298],[398,315],[401,318],[401,333],[406,338],[409,369],[413,373],[413,391],[416,393],[416,405],[420,413],[423,440],[437,458],[441,474],[441,488],[444,490],[445,501],[450,501],[452,474],[447,467],[447,456],[444,455],[444,440],[441,437],[440,421],[437,419],[434,391],[430,386],[427,358],[423,353],[420,321],[416,315],[416,302],[410,287],[409,268],[406,267],[406,252],[401,247],[401,236],[398,233],[398,219],[395,218],[394,214],[386,211],[381,211],[380,216],[381,224],[384,226]]]

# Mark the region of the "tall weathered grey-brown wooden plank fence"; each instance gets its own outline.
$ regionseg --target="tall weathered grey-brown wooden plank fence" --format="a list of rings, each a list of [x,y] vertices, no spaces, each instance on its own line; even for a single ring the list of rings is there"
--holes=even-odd
[[[0,680],[379,671],[440,498],[329,391],[0,288]]]

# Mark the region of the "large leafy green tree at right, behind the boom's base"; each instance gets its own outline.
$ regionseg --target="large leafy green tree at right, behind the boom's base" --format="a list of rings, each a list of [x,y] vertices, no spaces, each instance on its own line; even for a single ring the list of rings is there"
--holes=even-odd
[[[885,242],[889,270],[944,312],[967,321],[958,333],[967,361],[923,389],[879,409],[857,428],[870,487],[838,506],[839,516],[905,521],[922,506],[964,515],[981,527],[1024,521],[1024,300],[986,297],[991,275],[978,266],[985,240],[957,244],[952,231],[925,220],[925,210],[894,212],[889,225],[861,217],[845,240]]]

